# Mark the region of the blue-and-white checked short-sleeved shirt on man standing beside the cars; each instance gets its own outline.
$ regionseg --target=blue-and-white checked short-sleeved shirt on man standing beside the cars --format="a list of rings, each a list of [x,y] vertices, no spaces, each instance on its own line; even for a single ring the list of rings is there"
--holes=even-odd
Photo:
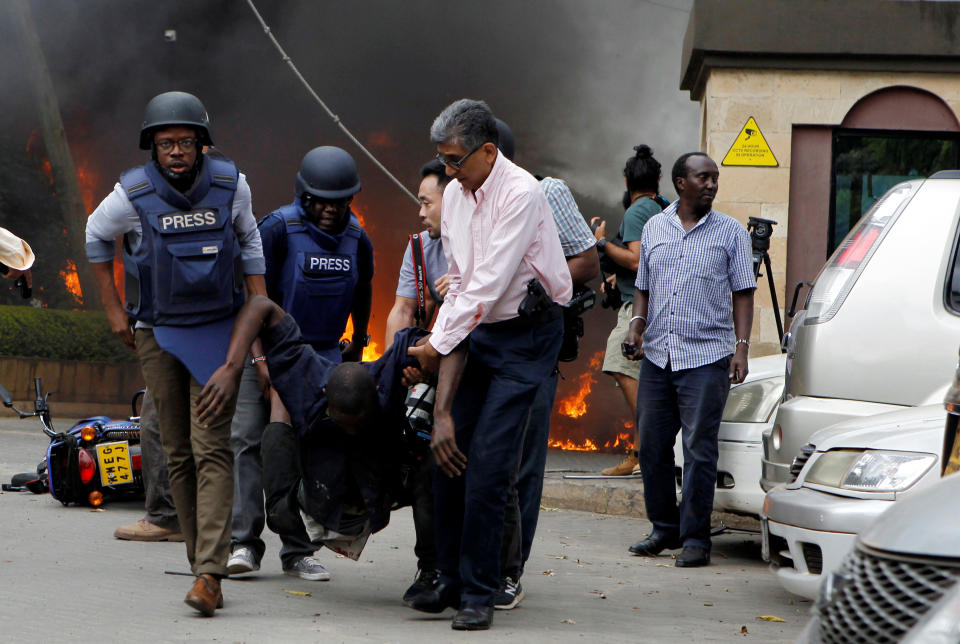
[[[690,232],[674,202],[643,228],[636,287],[649,293],[646,357],[693,369],[733,353],[731,293],[757,287],[747,229],[711,210]]]

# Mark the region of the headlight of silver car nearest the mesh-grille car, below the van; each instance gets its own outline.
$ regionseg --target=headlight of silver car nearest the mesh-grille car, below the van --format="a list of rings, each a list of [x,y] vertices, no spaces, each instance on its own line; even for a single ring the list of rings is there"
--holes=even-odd
[[[804,482],[864,492],[898,492],[923,476],[934,454],[882,450],[830,450],[810,466]]]

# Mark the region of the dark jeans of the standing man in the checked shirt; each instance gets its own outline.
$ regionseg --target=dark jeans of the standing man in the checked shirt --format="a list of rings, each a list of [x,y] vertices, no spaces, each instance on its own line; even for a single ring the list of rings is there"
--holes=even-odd
[[[653,533],[710,549],[717,483],[717,434],[730,392],[730,358],[673,371],[646,358],[637,388],[643,496]],[[677,506],[673,445],[683,439],[682,501]]]

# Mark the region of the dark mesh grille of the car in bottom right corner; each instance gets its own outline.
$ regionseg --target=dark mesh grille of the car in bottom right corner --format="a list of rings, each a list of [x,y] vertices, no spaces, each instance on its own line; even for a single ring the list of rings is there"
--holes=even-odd
[[[839,572],[845,581],[819,609],[822,641],[893,643],[960,580],[960,562],[905,561],[858,548]]]

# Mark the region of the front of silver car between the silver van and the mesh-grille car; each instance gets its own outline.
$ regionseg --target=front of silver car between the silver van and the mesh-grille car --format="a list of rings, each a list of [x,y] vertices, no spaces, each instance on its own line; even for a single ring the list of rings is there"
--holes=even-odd
[[[763,556],[788,591],[815,599],[857,534],[895,501],[940,476],[946,412],[926,405],[848,420],[815,433],[797,480],[767,493]]]

